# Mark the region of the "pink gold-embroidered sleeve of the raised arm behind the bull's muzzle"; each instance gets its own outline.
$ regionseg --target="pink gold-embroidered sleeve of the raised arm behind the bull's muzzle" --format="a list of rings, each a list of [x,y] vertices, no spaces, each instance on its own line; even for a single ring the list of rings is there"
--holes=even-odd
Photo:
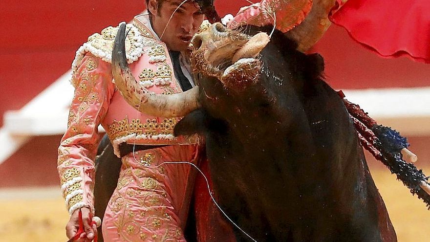
[[[312,0],[261,0],[258,3],[240,8],[234,20],[227,23],[230,28],[243,24],[256,26],[273,25],[287,32],[300,24],[312,8]]]

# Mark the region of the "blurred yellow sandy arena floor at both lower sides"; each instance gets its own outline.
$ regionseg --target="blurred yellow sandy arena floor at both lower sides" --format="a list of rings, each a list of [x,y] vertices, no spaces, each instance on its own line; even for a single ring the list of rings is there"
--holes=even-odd
[[[424,169],[430,174],[430,167]],[[429,241],[430,211],[387,169],[372,175],[388,208],[399,242]],[[65,242],[68,219],[60,188],[0,191],[0,242]]]

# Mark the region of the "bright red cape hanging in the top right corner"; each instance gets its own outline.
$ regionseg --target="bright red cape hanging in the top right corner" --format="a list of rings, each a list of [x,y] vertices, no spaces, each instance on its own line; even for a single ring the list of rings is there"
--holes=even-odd
[[[429,0],[348,0],[330,20],[381,56],[430,63]]]

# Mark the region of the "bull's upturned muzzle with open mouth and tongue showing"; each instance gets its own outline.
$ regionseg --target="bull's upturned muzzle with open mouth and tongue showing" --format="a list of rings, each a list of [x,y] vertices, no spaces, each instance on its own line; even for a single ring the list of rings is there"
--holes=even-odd
[[[214,23],[194,36],[194,72],[216,77],[226,88],[244,89],[258,80],[261,62],[257,56],[268,42],[266,33],[249,36]]]

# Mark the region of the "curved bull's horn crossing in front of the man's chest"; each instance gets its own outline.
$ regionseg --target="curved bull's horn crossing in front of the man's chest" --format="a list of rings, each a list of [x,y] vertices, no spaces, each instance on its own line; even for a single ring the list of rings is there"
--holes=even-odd
[[[157,117],[184,116],[200,107],[198,87],[173,95],[151,94],[141,87],[127,65],[125,39],[126,24],[122,23],[115,37],[112,51],[112,75],[124,99],[135,109]]]

